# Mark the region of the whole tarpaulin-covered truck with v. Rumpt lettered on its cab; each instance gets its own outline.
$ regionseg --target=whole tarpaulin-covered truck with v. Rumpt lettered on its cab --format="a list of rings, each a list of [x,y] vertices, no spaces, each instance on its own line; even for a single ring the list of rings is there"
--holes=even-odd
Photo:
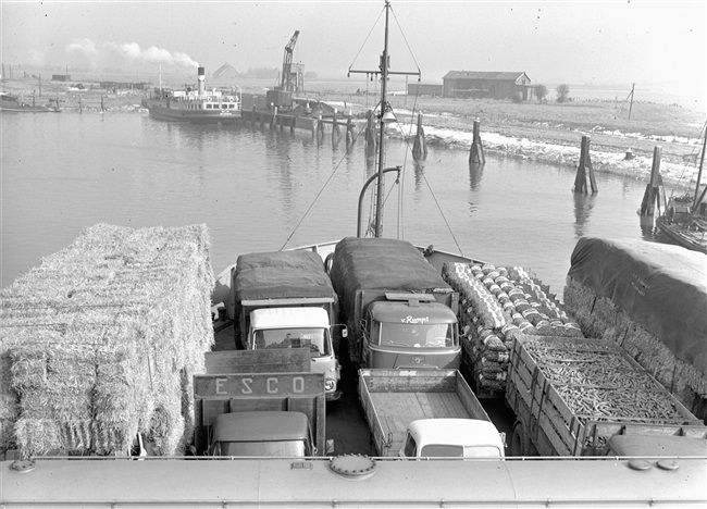
[[[340,298],[355,364],[459,368],[459,294],[418,248],[389,238],[347,237],[326,266]]]

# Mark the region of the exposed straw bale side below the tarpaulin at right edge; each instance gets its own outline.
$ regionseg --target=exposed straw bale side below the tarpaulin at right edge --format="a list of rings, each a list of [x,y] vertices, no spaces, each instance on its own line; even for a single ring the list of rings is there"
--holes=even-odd
[[[618,343],[687,409],[707,422],[707,376],[679,360],[668,347],[611,299],[568,277],[565,303],[585,335]]]

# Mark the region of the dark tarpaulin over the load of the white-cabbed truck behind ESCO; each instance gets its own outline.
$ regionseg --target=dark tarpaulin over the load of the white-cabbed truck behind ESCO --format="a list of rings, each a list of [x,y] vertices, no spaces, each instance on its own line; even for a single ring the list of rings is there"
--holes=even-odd
[[[241,254],[232,277],[236,302],[300,297],[336,300],[322,259],[312,251]]]

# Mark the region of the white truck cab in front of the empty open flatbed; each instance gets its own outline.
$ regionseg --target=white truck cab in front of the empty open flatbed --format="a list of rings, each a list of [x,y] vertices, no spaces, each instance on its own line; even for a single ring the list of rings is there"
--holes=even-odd
[[[504,458],[504,436],[479,419],[419,419],[410,423],[402,458]]]

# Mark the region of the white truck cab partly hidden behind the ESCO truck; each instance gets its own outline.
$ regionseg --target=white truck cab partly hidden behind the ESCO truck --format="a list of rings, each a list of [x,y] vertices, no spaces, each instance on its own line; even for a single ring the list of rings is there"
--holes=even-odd
[[[250,312],[246,348],[307,348],[311,372],[324,374],[326,400],[342,397],[342,367],[334,353],[330,318],[322,308],[264,308]]]

